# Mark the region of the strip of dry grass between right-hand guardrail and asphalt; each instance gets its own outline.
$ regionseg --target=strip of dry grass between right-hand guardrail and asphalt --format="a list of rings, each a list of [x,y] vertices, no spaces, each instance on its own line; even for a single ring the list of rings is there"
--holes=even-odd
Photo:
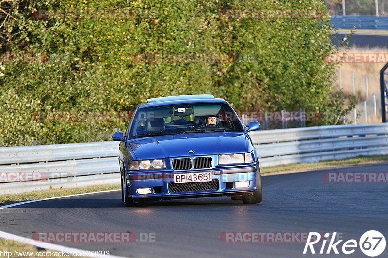
[[[261,174],[277,174],[287,172],[301,172],[315,169],[354,166],[362,164],[374,164],[388,162],[388,155],[374,155],[374,156],[359,156],[350,159],[343,160],[328,160],[317,163],[297,163],[289,165],[280,165],[275,167],[263,167],[261,168]]]

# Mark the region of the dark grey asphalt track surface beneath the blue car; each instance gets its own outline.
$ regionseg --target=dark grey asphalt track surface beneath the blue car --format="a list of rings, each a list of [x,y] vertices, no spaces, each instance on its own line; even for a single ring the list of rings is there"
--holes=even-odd
[[[336,231],[358,242],[364,232],[378,230],[388,241],[388,182],[325,182],[326,171],[388,172],[388,163],[266,176],[258,205],[214,197],[126,208],[119,191],[29,203],[0,210],[0,230],[27,238],[34,232],[155,233],[155,242],[58,243],[125,257],[334,256],[303,255],[304,242],[223,242],[223,232]],[[367,256],[356,248],[336,257]],[[379,257],[388,257],[388,247]]]

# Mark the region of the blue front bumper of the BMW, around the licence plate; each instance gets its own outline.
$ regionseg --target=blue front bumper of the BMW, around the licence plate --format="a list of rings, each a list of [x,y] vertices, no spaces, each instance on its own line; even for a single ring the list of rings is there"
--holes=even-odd
[[[235,196],[251,194],[256,188],[256,165],[211,169],[201,171],[163,171],[159,173],[126,173],[129,197],[141,200],[178,199],[194,197]],[[206,191],[170,192],[169,183],[174,182],[174,174],[212,172],[213,181],[218,181],[218,189]],[[235,188],[234,182],[249,181],[247,188]],[[151,194],[139,195],[137,188],[152,188]]]

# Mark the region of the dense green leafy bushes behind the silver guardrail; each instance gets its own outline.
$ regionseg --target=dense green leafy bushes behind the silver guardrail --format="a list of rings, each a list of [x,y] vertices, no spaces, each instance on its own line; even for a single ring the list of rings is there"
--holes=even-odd
[[[34,114],[132,111],[149,97],[166,95],[210,93],[240,112],[303,107],[324,118],[314,125],[335,124],[343,109],[341,95],[332,93],[333,64],[325,62],[335,51],[328,15],[231,19],[222,12],[325,13],[322,0],[6,0],[0,7],[0,52],[17,57],[0,67],[0,145],[107,140],[127,119],[41,121]],[[122,19],[96,15],[126,8],[131,14]],[[91,13],[37,19],[39,9]],[[154,62],[144,61],[144,54],[232,58]]]

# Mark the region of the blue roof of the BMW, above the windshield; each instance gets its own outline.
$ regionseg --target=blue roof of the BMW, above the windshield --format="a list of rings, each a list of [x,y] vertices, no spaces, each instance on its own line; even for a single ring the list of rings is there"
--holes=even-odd
[[[225,104],[226,101],[221,98],[215,98],[213,95],[209,95],[209,94],[180,95],[180,96],[168,96],[168,97],[148,99],[146,103],[140,104],[139,108],[146,108],[146,107],[152,107],[152,106],[178,105],[178,104],[195,104],[195,103]]]

